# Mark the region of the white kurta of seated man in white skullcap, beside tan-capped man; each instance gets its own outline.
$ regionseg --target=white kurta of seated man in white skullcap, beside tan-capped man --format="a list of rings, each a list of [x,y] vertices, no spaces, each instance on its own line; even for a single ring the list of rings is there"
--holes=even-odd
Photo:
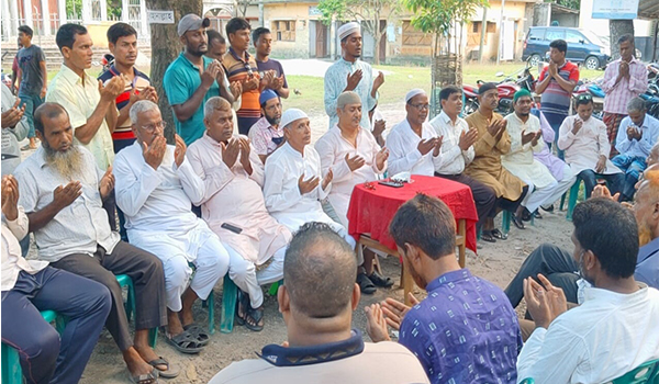
[[[298,180],[317,177],[319,185],[311,192],[301,194]],[[283,144],[266,160],[266,182],[264,195],[266,207],[272,217],[291,231],[298,230],[309,222],[322,222],[338,225],[323,212],[321,200],[327,197],[332,183],[322,189],[323,174],[321,158],[312,146],[304,147],[304,156],[293,149],[289,143]]]

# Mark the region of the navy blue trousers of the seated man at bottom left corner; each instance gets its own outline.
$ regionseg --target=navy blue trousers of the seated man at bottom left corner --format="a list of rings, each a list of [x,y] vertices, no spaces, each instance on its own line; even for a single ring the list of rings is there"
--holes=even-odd
[[[2,292],[2,342],[19,350],[27,383],[78,383],[111,307],[96,281],[52,267],[21,271]],[[45,309],[66,316],[62,338],[41,316]]]

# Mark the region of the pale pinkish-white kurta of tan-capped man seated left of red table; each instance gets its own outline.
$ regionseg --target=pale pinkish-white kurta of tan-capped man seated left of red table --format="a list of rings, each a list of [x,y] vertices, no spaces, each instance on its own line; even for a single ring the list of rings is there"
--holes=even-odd
[[[335,125],[316,142],[315,149],[321,157],[323,174],[326,174],[332,168],[334,178],[327,199],[340,218],[340,223],[347,228],[348,205],[353,189],[357,184],[377,180],[377,174],[383,173],[387,169],[387,163],[382,169],[378,169],[376,163],[376,155],[380,150],[380,146],[370,132],[360,127],[357,135],[357,147],[354,147],[343,137],[340,129]],[[366,163],[361,168],[350,171],[346,156],[360,156]]]

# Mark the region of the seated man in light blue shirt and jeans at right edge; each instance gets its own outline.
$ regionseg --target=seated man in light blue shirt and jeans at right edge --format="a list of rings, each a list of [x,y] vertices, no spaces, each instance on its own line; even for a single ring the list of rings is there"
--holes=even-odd
[[[615,149],[619,153],[611,161],[625,172],[622,200],[630,201],[634,185],[646,169],[646,159],[659,136],[659,121],[646,113],[645,101],[634,98],[627,103],[627,117],[621,122]]]

